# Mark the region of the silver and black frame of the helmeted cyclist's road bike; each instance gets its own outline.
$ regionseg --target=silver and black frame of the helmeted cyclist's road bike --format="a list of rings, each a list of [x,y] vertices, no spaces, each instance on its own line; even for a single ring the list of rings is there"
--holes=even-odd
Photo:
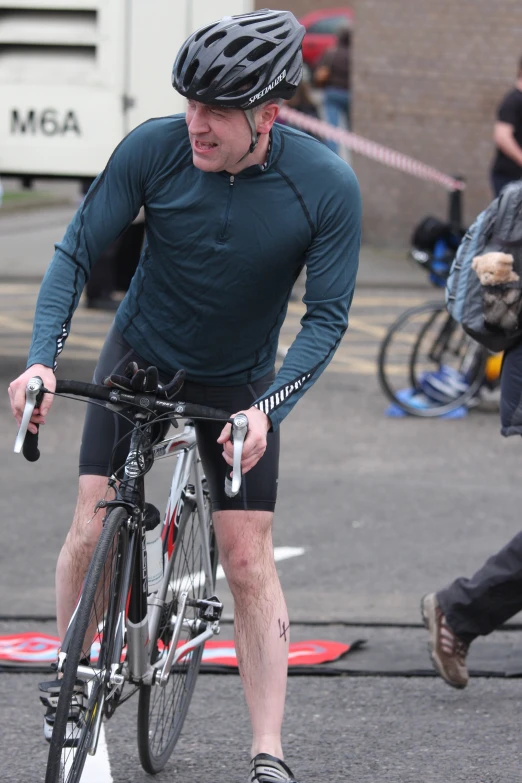
[[[140,414],[137,415],[137,422],[139,420]],[[139,470],[136,466],[140,464],[143,458],[144,445],[147,448],[146,441],[144,443],[143,433],[136,426],[131,435],[131,443],[125,463],[125,478],[117,490],[116,498],[112,501],[103,501],[101,503],[101,506],[106,506],[110,509],[124,507],[130,512],[127,520],[129,530],[128,557],[126,562],[122,564],[123,584],[129,585],[129,589],[122,591],[121,605],[117,611],[117,640],[110,663],[111,671],[109,674],[107,670],[101,671],[93,669],[92,666],[82,665],[78,666],[77,669],[77,676],[85,680],[88,685],[95,679],[100,681],[108,675],[109,684],[112,686],[111,696],[118,692],[121,693],[125,682],[131,682],[136,685],[152,685],[156,683],[159,686],[165,686],[172,666],[219,632],[218,621],[214,621],[210,627],[207,627],[207,624],[203,621],[185,619],[188,595],[182,589],[178,613],[174,622],[174,631],[166,655],[162,656],[157,662],[150,663],[150,639],[155,638],[170,587],[170,569],[167,565],[174,553],[176,531],[179,529],[180,517],[185,501],[189,497],[194,500],[199,513],[198,528],[201,536],[204,567],[204,574],[195,574],[194,580],[204,578],[205,583],[213,587],[213,574],[209,535],[208,529],[206,529],[207,517],[205,515],[201,459],[197,451],[194,424],[188,422],[181,433],[166,438],[151,447],[153,457],[156,459],[169,456],[176,456],[177,459],[163,520],[164,576],[158,591],[150,595],[148,594],[145,525],[143,519],[136,520],[136,512],[138,509],[144,508],[144,478],[142,474],[133,475],[136,470]],[[193,494],[192,487],[187,490],[191,475],[194,479]],[[143,517],[143,513],[140,516]],[[59,654],[58,671],[63,671],[65,665],[68,639],[73,632],[75,615],[76,611],[70,620],[62,651]],[[186,644],[178,647],[181,631],[188,626],[190,626],[192,632],[196,632],[196,636]],[[127,651],[125,661],[122,664],[125,634]],[[96,752],[102,713],[103,710],[100,710],[96,724],[93,727],[89,748],[89,753],[91,754]]]

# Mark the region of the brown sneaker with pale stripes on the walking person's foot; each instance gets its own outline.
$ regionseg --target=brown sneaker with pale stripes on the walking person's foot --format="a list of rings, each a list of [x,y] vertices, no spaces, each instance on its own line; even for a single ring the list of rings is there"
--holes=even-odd
[[[430,634],[428,649],[433,666],[448,685],[465,688],[469,680],[466,668],[469,644],[453,633],[435,593],[424,596],[421,612],[424,625]]]

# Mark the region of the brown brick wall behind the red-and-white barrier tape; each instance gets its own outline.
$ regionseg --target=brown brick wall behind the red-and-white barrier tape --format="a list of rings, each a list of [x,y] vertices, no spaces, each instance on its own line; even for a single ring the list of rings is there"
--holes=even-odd
[[[339,3],[341,4],[341,3]],[[287,0],[297,16],[334,2]],[[467,180],[464,220],[491,199],[498,102],[522,55],[520,0],[351,0],[352,129]],[[263,5],[257,3],[257,7]],[[407,245],[425,214],[445,217],[441,187],[353,156],[364,239]]]

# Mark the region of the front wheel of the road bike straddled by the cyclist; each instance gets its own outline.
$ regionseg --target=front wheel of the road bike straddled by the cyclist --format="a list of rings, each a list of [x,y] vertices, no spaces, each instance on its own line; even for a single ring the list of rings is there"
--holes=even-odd
[[[129,552],[129,538],[125,521],[128,513],[115,508],[106,517],[102,533],[85,578],[79,599],[74,626],[67,649],[62,685],[56,708],[53,734],[49,748],[45,783],[79,783],[89,750],[92,729],[98,711],[103,708],[105,689],[114,658],[121,659],[123,633],[116,640],[119,607],[122,605],[123,574]],[[107,596],[107,598],[106,598]],[[103,611],[100,611],[103,607]],[[87,707],[79,728],[77,742],[68,746],[67,722],[73,688],[80,660],[91,651],[84,649],[84,640],[90,628],[96,627],[100,649],[96,669],[98,672],[89,686]],[[91,632],[87,638],[91,637]],[[104,676],[99,676],[99,670]]]

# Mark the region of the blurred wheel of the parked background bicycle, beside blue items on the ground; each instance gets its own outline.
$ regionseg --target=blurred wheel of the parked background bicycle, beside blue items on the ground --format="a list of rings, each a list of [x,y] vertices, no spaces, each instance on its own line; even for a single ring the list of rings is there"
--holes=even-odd
[[[379,350],[379,381],[405,413],[443,416],[476,397],[487,356],[443,302],[428,302],[406,310],[390,326]]]

